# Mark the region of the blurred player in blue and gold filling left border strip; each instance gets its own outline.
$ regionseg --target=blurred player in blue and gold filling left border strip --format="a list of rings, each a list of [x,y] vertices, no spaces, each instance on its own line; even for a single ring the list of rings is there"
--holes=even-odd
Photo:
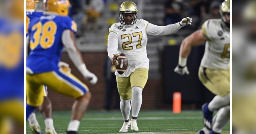
[[[23,3],[0,2],[0,134],[24,133]]]

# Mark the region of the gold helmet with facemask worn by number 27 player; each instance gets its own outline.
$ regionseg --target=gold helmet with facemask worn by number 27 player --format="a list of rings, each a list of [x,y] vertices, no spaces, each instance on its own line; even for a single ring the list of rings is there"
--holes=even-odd
[[[134,17],[131,19],[130,24],[125,23],[125,19],[123,14],[124,13],[133,13]],[[138,15],[138,8],[137,5],[132,1],[125,1],[121,4],[119,8],[119,20],[122,25],[130,26],[136,23]]]

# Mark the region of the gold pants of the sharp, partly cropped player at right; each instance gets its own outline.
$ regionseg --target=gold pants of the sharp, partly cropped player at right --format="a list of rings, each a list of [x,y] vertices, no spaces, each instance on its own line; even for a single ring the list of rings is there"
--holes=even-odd
[[[212,70],[200,66],[199,80],[213,94],[221,97],[230,93],[230,68],[227,70]]]

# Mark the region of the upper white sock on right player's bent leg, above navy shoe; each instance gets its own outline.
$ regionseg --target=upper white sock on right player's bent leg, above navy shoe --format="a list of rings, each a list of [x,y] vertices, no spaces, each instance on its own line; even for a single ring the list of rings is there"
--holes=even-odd
[[[209,103],[208,109],[210,111],[214,111],[217,109],[220,109],[221,107],[225,107],[230,104],[230,94],[220,97],[219,95],[216,95],[213,100]]]

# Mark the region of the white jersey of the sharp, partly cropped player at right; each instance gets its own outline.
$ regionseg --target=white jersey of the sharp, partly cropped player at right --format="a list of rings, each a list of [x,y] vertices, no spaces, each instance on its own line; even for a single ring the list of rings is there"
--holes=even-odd
[[[206,41],[201,66],[210,69],[229,68],[230,61],[230,31],[222,25],[221,19],[209,19],[202,25]]]

